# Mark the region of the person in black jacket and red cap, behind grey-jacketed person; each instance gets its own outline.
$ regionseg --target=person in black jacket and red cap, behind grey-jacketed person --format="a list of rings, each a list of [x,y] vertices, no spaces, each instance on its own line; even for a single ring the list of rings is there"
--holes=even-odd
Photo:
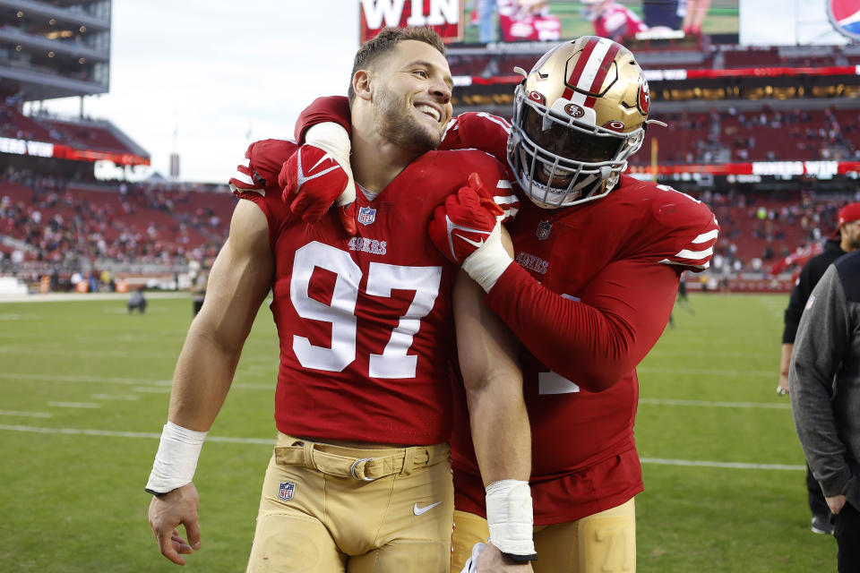
[[[827,240],[824,252],[810,259],[800,271],[795,287],[791,291],[788,307],[785,314],[785,329],[782,332],[782,357],[779,361],[779,386],[780,394],[787,394],[788,388],[788,366],[791,363],[791,353],[795,346],[797,325],[804,313],[804,306],[818,284],[824,271],[833,261],[836,261],[847,252],[860,248],[860,203],[848,203],[839,210],[839,226],[834,237]],[[806,489],[808,491],[809,509],[813,512],[813,533],[832,534],[833,526],[830,523],[831,515],[821,486],[813,477],[809,466],[806,466]]]

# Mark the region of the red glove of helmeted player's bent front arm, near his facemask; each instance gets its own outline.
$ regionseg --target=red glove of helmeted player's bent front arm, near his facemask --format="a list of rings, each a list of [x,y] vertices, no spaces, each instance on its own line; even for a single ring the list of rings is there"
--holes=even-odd
[[[497,217],[504,211],[488,195],[481,178],[473,173],[469,186],[460,187],[436,207],[430,238],[448,260],[462,264],[495,229]]]

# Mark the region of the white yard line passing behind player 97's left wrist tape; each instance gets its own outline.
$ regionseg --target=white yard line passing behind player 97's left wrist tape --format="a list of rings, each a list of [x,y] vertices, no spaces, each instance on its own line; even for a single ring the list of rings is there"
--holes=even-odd
[[[160,433],[154,432],[116,432],[110,430],[88,430],[82,428],[43,428],[38,426],[18,426],[0,424],[0,431],[8,432],[30,432],[49,434],[71,434],[85,436],[104,436],[108,438],[145,438],[159,440]],[[228,438],[221,436],[207,436],[206,441],[219,441],[230,444],[261,444],[273,446],[275,438]],[[725,469],[760,469],[760,470],[788,470],[805,471],[806,466],[792,466],[788,464],[744,464],[740,462],[714,462],[692,459],[664,459],[664,458],[641,458],[643,464],[655,464],[660,466],[696,466],[696,467],[718,467]]]

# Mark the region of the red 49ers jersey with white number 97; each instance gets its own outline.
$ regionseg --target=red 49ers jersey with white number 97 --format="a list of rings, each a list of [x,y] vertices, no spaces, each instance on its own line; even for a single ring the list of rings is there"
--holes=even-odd
[[[230,180],[269,222],[278,429],[384,443],[448,440],[458,268],[426,229],[435,207],[472,172],[509,196],[503,167],[477,150],[428,152],[373,201],[358,193],[351,237],[334,210],[311,225],[281,201],[277,175],[296,149],[291,141],[256,142]]]

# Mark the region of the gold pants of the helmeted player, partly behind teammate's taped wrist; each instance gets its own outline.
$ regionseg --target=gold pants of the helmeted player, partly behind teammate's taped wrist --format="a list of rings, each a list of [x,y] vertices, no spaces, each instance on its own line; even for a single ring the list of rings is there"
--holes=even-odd
[[[451,570],[460,573],[475,543],[486,543],[486,519],[454,511]],[[593,516],[535,526],[535,573],[633,573],[636,570],[636,509],[633,500]]]

